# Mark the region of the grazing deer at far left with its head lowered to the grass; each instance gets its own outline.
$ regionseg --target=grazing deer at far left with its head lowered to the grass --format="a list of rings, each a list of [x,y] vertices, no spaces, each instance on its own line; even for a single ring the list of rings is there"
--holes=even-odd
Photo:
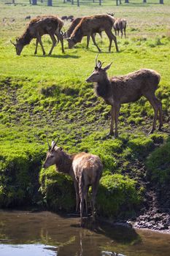
[[[23,33],[23,35],[16,39],[16,42],[12,42],[12,45],[15,46],[17,55],[20,56],[20,53],[23,50],[23,47],[25,45],[28,45],[32,39],[36,38],[36,48],[34,54],[37,53],[38,44],[42,47],[42,53],[45,55],[45,49],[42,45],[42,35],[49,34],[50,38],[52,39],[53,45],[50,49],[49,55],[53,52],[53,48],[55,47],[55,44],[57,40],[55,39],[55,36],[58,38],[58,41],[61,42],[61,48],[62,52],[64,53],[63,49],[63,37],[61,34],[61,28],[63,27],[63,21],[58,18],[58,16],[54,15],[45,15],[45,16],[39,16],[34,19],[32,19],[26,28],[26,31]]]

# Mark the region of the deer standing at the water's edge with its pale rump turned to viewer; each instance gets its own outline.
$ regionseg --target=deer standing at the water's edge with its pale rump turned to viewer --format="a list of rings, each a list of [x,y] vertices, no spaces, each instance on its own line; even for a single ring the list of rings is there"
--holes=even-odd
[[[72,177],[74,189],[76,192],[76,211],[80,205],[80,226],[82,226],[82,214],[84,210],[84,201],[86,212],[88,212],[88,189],[92,187],[91,207],[92,219],[94,221],[94,210],[96,194],[98,190],[99,180],[102,175],[103,165],[101,159],[94,155],[81,152],[78,154],[67,154],[63,148],[57,146],[58,140],[48,143],[49,150],[42,167],[45,169],[51,165],[55,165],[59,173],[65,173]]]

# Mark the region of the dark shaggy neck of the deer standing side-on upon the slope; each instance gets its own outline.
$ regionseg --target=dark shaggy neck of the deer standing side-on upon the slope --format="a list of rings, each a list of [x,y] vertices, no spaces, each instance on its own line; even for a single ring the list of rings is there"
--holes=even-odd
[[[105,101],[107,101],[107,99],[111,96],[109,78],[105,77],[102,80],[100,80],[98,83],[96,83],[95,90],[96,90],[96,94],[99,97],[102,97]]]

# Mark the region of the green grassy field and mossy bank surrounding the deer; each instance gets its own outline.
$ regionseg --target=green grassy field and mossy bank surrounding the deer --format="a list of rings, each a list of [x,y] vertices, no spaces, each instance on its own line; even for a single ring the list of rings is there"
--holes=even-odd
[[[149,2],[149,1],[148,1]],[[96,47],[86,40],[66,53],[61,46],[52,56],[34,56],[34,40],[16,56],[10,39],[20,36],[26,15],[77,15],[77,7],[59,2],[54,7],[31,7],[25,1],[7,5],[1,1],[0,20],[0,206],[26,204],[48,206],[54,211],[74,211],[72,181],[58,175],[55,168],[41,170],[49,140],[60,135],[60,146],[69,153],[88,151],[98,154],[104,163],[104,175],[98,191],[98,214],[127,217],[139,211],[144,202],[146,184],[169,181],[169,112],[170,112],[170,8],[140,4],[115,7],[106,1],[80,7],[79,15],[106,13],[128,20],[127,37],[117,37],[120,52],[108,53],[108,39],[96,36],[102,52],[98,59],[113,61],[109,75],[124,75],[142,67],[161,74],[157,96],[163,103],[163,132],[147,135],[153,111],[142,98],[120,110],[120,138],[105,138],[109,132],[110,107],[93,91],[85,79],[93,71]],[[14,21],[12,21],[14,19]],[[69,21],[64,24],[66,30]],[[50,39],[43,38],[50,50]],[[41,171],[40,171],[41,170]],[[41,187],[40,187],[41,186]],[[154,185],[155,186],[155,185]],[[40,189],[39,189],[40,187]],[[68,193],[66,193],[68,192]]]

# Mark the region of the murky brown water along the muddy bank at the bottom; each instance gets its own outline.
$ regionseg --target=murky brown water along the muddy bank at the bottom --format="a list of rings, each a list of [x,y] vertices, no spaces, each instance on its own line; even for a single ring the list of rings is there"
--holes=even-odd
[[[0,256],[169,256],[170,235],[47,211],[0,211]]]

